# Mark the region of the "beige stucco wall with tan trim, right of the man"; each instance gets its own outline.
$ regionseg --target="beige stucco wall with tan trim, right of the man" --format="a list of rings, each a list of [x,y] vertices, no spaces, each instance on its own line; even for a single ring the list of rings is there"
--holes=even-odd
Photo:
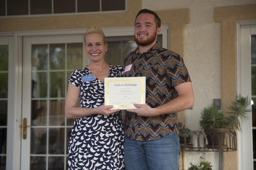
[[[232,8],[224,7],[251,4],[256,4],[256,1],[159,0],[158,3],[155,3],[154,0],[142,0],[142,8],[152,10],[189,9],[190,21],[184,29],[183,58],[189,70],[195,93],[193,110],[185,111],[185,125],[190,129],[200,129],[200,111],[203,107],[212,105],[214,98],[224,99],[222,105],[223,110],[225,110],[230,99],[236,95],[236,27],[230,25],[236,24],[237,19],[246,20],[248,14],[246,15],[241,11],[248,12],[248,9],[242,7],[242,9],[232,10]],[[255,12],[253,12],[253,9],[256,11],[256,8],[254,6],[248,8],[251,10],[251,16],[247,19],[256,19]],[[235,17],[232,17],[234,15]],[[228,39],[230,37],[232,37],[231,40]],[[233,57],[230,56],[230,53]],[[230,57],[224,57],[227,54]],[[232,63],[229,59],[232,60]],[[223,65],[222,62],[225,64]],[[233,72],[229,72],[229,69]],[[228,74],[226,74],[227,72]],[[231,87],[228,86],[230,79]],[[212,162],[213,169],[218,169],[218,154],[214,152],[186,152],[186,166],[184,168],[187,169],[189,162],[197,162],[197,158],[203,156]],[[237,152],[224,154],[224,169],[238,169],[237,154]]]

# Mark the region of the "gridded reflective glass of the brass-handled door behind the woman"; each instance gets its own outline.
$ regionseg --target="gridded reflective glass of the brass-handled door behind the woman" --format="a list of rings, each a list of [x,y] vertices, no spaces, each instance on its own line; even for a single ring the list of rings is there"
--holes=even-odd
[[[32,44],[31,170],[65,168],[74,122],[64,113],[67,82],[82,59],[82,42]]]

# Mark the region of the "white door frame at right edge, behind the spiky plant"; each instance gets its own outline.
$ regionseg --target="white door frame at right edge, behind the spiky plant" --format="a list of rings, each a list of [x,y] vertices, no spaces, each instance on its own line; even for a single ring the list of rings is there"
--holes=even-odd
[[[254,26],[252,26],[254,25]],[[256,21],[237,23],[237,93],[251,99],[251,28],[256,30]],[[249,65],[249,66],[248,66]],[[245,74],[247,73],[247,74]],[[249,74],[248,74],[249,73]],[[248,107],[251,109],[251,105]],[[241,124],[242,132],[238,131],[239,169],[253,169],[252,153],[252,114]]]

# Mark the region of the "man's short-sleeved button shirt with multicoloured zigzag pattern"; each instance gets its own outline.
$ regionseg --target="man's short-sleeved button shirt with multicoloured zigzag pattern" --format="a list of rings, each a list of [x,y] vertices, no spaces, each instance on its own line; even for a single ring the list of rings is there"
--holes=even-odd
[[[156,108],[178,96],[174,86],[191,82],[182,57],[162,48],[157,42],[147,52],[140,54],[139,47],[127,55],[124,61],[124,77],[146,77],[146,103]],[[125,135],[129,139],[150,141],[169,133],[178,133],[177,113],[154,117],[138,116],[126,112],[124,123]]]

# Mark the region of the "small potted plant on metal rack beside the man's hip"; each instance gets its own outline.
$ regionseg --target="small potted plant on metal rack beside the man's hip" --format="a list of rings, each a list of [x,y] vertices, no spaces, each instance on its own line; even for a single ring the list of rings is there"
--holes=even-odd
[[[179,122],[178,128],[179,128],[179,136],[180,136],[181,147],[184,147],[185,144],[186,144],[186,146],[190,147],[189,144],[191,142],[191,136],[189,135],[189,132],[191,130],[189,128],[186,128],[185,125],[182,126],[181,122]]]

